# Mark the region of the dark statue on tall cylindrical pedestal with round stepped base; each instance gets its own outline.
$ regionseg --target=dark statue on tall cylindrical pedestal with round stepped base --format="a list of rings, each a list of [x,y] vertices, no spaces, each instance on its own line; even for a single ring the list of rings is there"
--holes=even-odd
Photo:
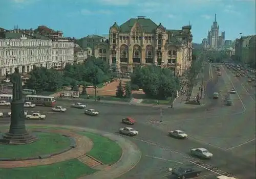
[[[12,87],[11,103],[11,124],[9,132],[0,138],[1,143],[6,144],[26,144],[37,140],[33,135],[27,133],[25,126],[24,100],[22,94],[22,78],[18,68],[10,75]]]

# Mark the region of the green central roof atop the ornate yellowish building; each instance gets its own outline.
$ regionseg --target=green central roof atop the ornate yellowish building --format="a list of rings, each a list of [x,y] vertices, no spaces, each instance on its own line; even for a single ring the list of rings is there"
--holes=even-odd
[[[144,32],[148,32],[148,33],[152,33],[156,31],[158,27],[158,25],[149,18],[131,18],[130,20],[127,20],[126,22],[121,24],[118,30],[121,33],[131,32],[136,22],[140,25],[140,27],[144,30]],[[114,24],[114,25],[115,25],[114,27],[118,27],[117,24]]]

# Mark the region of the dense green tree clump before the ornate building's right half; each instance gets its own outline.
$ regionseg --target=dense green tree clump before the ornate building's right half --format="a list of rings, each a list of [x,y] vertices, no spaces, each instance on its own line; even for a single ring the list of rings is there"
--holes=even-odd
[[[137,67],[131,75],[132,86],[143,89],[148,98],[166,99],[175,94],[180,84],[173,71],[157,66]]]

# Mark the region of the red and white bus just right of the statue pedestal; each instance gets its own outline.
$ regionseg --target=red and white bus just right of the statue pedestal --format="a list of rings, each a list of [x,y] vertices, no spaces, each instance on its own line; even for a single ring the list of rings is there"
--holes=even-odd
[[[27,95],[25,102],[31,102],[37,106],[54,106],[56,100],[53,96]]]

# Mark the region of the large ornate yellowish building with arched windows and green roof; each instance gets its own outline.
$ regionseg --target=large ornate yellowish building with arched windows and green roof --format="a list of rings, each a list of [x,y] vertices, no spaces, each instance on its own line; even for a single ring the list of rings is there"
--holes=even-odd
[[[109,56],[112,68],[133,72],[141,65],[158,65],[182,75],[191,66],[191,25],[181,30],[166,30],[149,18],[131,18],[110,28]]]

